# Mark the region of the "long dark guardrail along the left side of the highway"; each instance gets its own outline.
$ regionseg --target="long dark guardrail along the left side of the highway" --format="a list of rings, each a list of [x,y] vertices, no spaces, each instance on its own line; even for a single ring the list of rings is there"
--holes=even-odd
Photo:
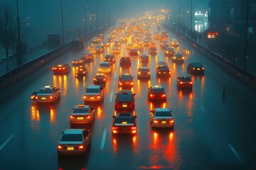
[[[98,30],[92,31],[86,35],[83,35],[85,40],[90,40],[95,35],[99,33],[103,33],[105,28],[99,28]],[[55,58],[59,57],[63,53],[70,50],[73,47],[73,41],[65,43],[65,47],[57,47],[54,50],[46,52],[46,54],[38,56],[35,60],[31,60],[26,64],[23,64],[16,69],[11,70],[11,72],[7,72],[0,76],[0,92],[7,89],[11,84],[16,83],[16,81],[21,80],[23,77],[26,77],[28,74],[36,71],[43,65],[49,63],[50,61],[54,60]]]

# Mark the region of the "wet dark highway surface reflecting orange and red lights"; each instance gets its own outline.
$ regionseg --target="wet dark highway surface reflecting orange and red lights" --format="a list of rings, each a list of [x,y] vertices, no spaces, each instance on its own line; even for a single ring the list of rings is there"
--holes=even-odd
[[[152,29],[154,33],[154,29]],[[117,35],[117,38],[121,33]],[[105,33],[105,40],[107,33]],[[71,108],[82,104],[86,86],[92,84],[92,77],[105,54],[95,55],[87,63],[87,77],[75,77],[72,60],[85,53],[70,50],[50,64],[38,69],[25,79],[1,93],[0,103],[0,169],[251,169],[256,167],[256,95],[223,69],[220,69],[193,46],[169,32],[169,42],[176,39],[180,47],[176,52],[188,49],[191,55],[183,64],[171,62],[164,57],[164,51],[156,40],[157,55],[149,55],[150,81],[137,79],[139,62],[132,58],[130,69],[119,67],[119,58],[128,56],[125,44],[116,55],[117,62],[112,73],[107,74],[103,103],[90,103],[96,108],[95,123],[82,126],[92,131],[92,145],[85,157],[58,159],[56,147],[61,132],[70,128]],[[149,54],[148,47],[141,52]],[[156,62],[165,61],[171,67],[171,79],[156,79]],[[192,91],[179,91],[176,77],[188,76],[186,66],[201,62],[206,68],[204,76],[191,76]],[[72,67],[68,75],[53,75],[51,67],[68,63]],[[137,135],[112,136],[111,125],[114,113],[114,97],[118,92],[119,74],[134,76],[135,112],[137,114]],[[151,103],[147,100],[147,88],[162,85],[167,94],[166,103]],[[48,105],[31,102],[32,91],[45,85],[60,88],[60,101]],[[223,97],[223,87],[225,96]],[[174,130],[152,129],[149,125],[149,111],[165,106],[173,111]],[[253,169],[253,168],[252,168]]]

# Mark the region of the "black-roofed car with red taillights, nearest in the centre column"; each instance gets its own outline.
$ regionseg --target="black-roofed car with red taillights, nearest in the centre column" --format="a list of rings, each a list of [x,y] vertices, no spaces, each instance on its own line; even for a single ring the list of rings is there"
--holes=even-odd
[[[137,134],[137,115],[117,113],[112,115],[112,135]]]

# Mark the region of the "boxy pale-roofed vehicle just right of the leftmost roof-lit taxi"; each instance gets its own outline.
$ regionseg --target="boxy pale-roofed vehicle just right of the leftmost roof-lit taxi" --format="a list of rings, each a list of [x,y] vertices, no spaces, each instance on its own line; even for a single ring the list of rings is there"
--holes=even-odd
[[[90,85],[85,89],[84,101],[104,101],[104,90],[99,85]]]

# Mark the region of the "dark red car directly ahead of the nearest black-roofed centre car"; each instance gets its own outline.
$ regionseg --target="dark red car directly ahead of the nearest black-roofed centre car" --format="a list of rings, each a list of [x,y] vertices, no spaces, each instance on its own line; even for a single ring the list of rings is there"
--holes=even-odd
[[[115,111],[134,111],[135,99],[131,90],[120,90],[114,100]]]

